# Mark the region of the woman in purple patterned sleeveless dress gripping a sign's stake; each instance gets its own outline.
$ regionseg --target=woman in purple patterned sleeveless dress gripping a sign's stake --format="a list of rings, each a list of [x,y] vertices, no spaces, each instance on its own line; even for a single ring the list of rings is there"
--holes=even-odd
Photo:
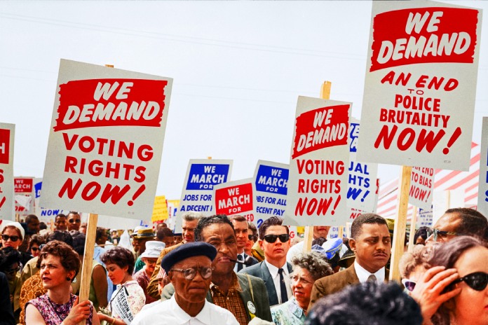
[[[29,300],[25,307],[25,324],[76,325],[83,320],[88,325],[100,324],[90,300],[79,301],[79,297],[70,293],[71,282],[81,264],[72,247],[57,240],[48,242],[37,263],[42,284],[48,292]]]

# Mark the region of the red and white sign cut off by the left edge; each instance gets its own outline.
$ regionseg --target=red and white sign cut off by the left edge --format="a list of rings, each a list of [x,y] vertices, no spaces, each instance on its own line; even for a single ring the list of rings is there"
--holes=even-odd
[[[0,123],[0,219],[15,220],[13,139],[15,125]]]

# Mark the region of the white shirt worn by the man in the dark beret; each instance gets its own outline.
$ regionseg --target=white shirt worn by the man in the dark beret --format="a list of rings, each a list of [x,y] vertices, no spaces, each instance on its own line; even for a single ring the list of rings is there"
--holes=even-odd
[[[209,303],[195,316],[191,317],[176,302],[175,295],[161,301],[155,307],[142,310],[130,325],[239,325],[236,317],[222,307]]]

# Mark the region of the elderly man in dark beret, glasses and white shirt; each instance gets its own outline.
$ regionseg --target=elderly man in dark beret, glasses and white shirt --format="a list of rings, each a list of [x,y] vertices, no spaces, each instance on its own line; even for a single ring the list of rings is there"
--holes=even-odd
[[[189,242],[164,256],[161,267],[175,287],[169,299],[143,310],[132,325],[205,324],[238,325],[236,317],[222,307],[209,303],[212,261],[217,250],[206,242]]]

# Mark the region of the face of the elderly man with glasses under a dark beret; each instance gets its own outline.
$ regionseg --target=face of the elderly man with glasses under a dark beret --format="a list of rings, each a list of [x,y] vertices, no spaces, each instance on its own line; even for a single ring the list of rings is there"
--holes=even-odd
[[[202,303],[207,296],[208,288],[210,288],[210,282],[212,277],[203,279],[198,268],[210,268],[212,267],[212,261],[207,256],[194,256],[191,258],[185,258],[173,265],[172,270],[169,272],[169,277],[172,285],[175,287],[175,298],[179,302],[184,301],[183,304],[189,303]],[[183,272],[176,270],[187,270],[189,268],[196,268],[196,275],[193,279],[186,279]]]

